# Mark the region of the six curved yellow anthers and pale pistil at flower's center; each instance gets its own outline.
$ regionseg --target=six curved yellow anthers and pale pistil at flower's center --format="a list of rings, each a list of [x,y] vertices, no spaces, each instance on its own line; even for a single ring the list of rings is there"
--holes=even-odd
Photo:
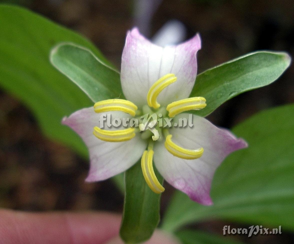
[[[168,104],[167,107],[161,107],[157,102],[157,97],[164,88],[176,82],[177,77],[174,74],[167,74],[156,81],[148,91],[147,104],[143,106],[142,111],[131,101],[123,99],[108,99],[95,103],[94,111],[103,113],[109,111],[122,111],[133,116],[140,123],[134,123],[130,128],[108,131],[95,126],[93,134],[103,141],[122,142],[131,140],[136,133],[141,134],[141,138],[148,140],[148,148],[143,152],[141,158],[142,173],[148,186],[155,193],[162,193],[163,186],[159,183],[153,170],[153,146],[156,141],[165,138],[164,146],[173,156],[183,159],[200,158],[203,154],[203,148],[186,149],[178,146],[171,138],[172,135],[168,129],[171,127],[171,120],[178,114],[189,110],[200,110],[206,107],[206,100],[203,97],[191,97]],[[161,108],[160,108],[161,107]],[[141,116],[141,114],[144,116]],[[135,128],[138,126],[138,129]]]

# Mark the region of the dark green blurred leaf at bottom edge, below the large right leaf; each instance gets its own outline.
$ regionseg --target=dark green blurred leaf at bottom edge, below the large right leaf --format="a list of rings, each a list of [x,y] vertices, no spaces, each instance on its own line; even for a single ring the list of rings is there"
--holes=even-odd
[[[213,235],[199,230],[181,230],[175,235],[183,244],[242,244],[227,236]]]

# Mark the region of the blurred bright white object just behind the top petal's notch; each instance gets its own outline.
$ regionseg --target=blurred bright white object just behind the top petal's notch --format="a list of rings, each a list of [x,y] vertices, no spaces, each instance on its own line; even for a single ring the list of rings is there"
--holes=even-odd
[[[156,32],[152,42],[158,46],[175,45],[183,42],[186,35],[186,27],[181,21],[169,20]]]

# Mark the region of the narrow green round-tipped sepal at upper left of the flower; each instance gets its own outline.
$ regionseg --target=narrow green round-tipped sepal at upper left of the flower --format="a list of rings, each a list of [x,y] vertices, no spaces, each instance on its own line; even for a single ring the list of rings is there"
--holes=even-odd
[[[104,64],[88,49],[61,43],[52,49],[50,61],[93,102],[123,98],[119,72]]]

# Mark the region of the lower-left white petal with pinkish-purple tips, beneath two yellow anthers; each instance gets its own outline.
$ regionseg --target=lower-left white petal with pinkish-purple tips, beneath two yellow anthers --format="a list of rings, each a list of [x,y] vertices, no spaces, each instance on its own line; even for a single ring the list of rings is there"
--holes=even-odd
[[[129,141],[106,142],[93,135],[93,127],[115,130],[107,127],[106,122],[99,122],[102,114],[111,114],[111,118],[126,118],[123,112],[95,113],[93,107],[83,108],[64,118],[62,123],[71,127],[85,142],[89,149],[90,171],[86,181],[102,181],[115,176],[133,166],[142,156],[147,142],[139,133]],[[111,120],[112,121],[112,120]],[[122,129],[121,127],[119,129]]]

